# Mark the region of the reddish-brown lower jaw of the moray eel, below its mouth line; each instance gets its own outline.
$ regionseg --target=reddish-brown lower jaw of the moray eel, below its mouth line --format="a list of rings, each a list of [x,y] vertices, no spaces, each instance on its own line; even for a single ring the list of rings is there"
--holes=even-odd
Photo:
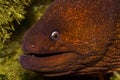
[[[62,76],[74,73],[78,67],[78,59],[77,54],[70,52],[52,56],[24,54],[20,56],[20,63],[23,68],[42,73],[44,76]]]

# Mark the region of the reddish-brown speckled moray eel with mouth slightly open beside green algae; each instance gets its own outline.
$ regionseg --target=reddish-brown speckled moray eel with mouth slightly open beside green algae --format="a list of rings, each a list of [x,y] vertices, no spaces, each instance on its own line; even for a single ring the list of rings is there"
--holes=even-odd
[[[44,76],[119,71],[120,0],[55,0],[22,49],[22,67]]]

